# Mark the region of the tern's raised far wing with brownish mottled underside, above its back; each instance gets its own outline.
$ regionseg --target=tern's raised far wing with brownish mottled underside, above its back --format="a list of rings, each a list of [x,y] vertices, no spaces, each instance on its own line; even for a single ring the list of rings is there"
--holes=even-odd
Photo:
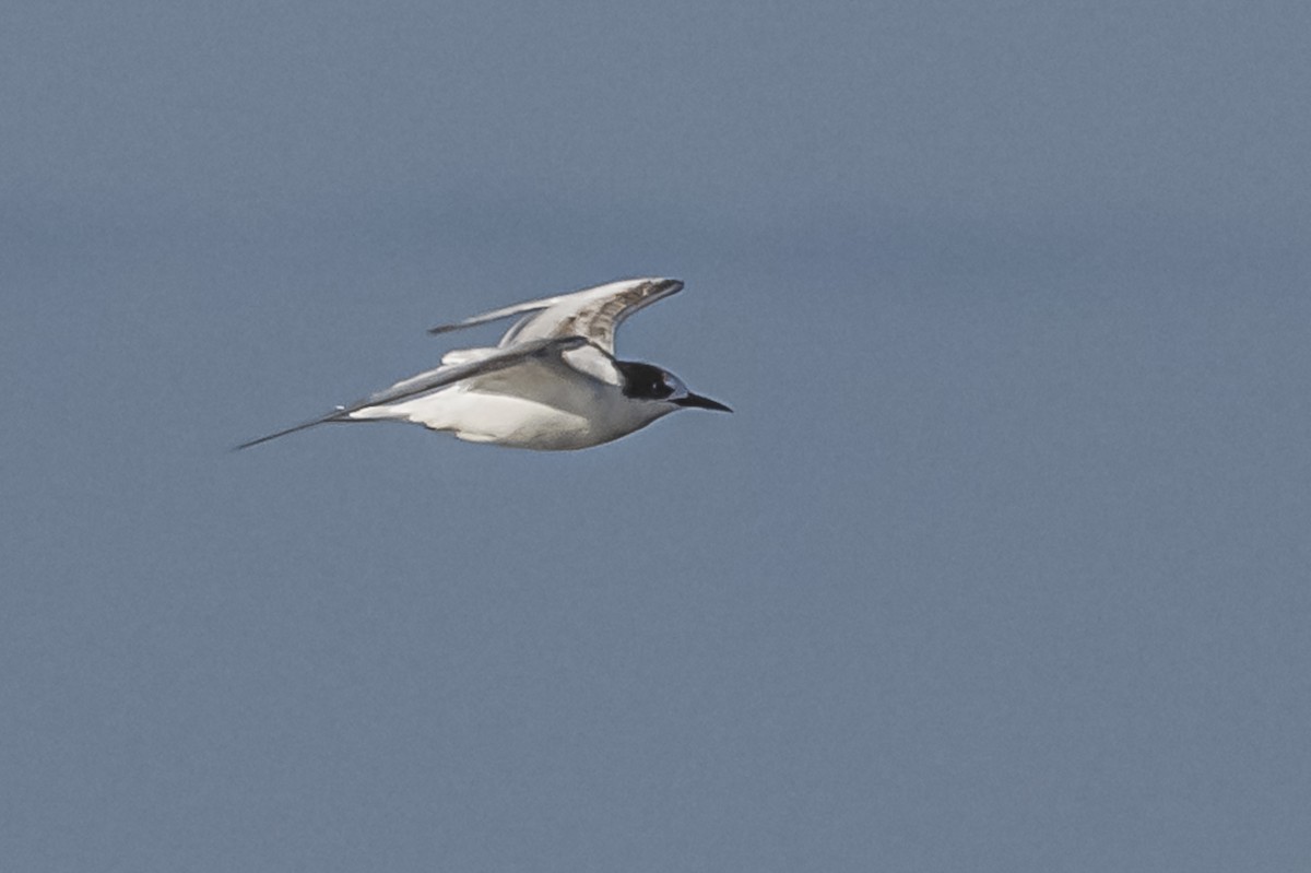
[[[555,298],[528,300],[503,309],[493,309],[464,321],[446,324],[429,333],[446,333],[476,324],[486,324],[523,315],[501,338],[501,347],[520,342],[562,337],[583,337],[607,354],[615,354],[615,330],[642,307],[676,294],[683,287],[678,279],[624,279],[585,288]]]

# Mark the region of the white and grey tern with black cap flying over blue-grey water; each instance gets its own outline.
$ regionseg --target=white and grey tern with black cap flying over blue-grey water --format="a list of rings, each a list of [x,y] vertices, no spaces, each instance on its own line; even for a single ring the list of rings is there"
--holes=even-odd
[[[615,358],[620,322],[682,288],[678,279],[624,279],[433,328],[439,334],[522,316],[496,347],[455,349],[435,370],[237,448],[329,422],[406,421],[472,443],[569,451],[627,436],[679,409],[733,412],[667,370]]]

